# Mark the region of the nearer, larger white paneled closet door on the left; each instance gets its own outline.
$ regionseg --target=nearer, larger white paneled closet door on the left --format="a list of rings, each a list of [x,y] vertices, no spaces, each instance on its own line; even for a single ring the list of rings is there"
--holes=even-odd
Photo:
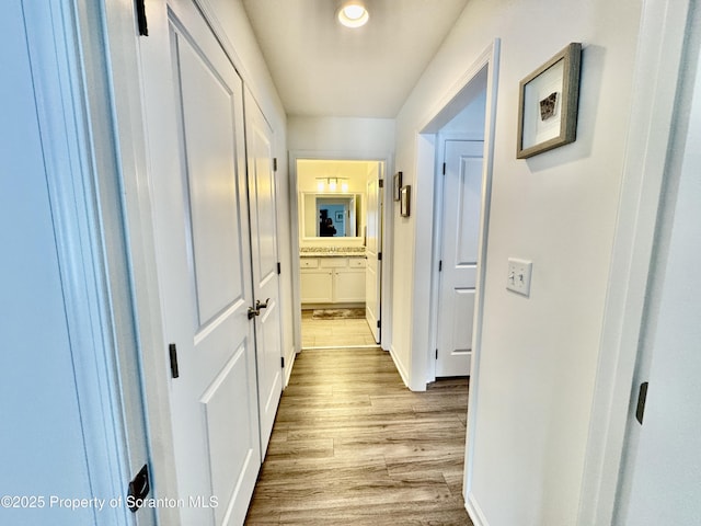
[[[179,508],[184,525],[240,525],[261,465],[243,84],[193,4],[169,18],[180,162],[154,171],[153,199],[179,366],[170,385]]]

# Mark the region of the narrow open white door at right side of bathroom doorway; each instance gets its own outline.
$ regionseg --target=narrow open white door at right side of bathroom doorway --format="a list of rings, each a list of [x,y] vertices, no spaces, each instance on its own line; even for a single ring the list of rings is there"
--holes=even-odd
[[[380,343],[380,294],[382,261],[382,191],[380,188],[380,163],[368,173],[367,215],[366,215],[366,256],[365,266],[365,318],[376,343]]]

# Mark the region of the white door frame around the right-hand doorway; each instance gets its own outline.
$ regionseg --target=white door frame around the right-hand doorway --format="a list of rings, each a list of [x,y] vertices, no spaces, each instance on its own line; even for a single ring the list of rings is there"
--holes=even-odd
[[[417,229],[416,243],[432,247],[429,254],[416,254],[414,272],[416,275],[430,276],[430,283],[415,282],[414,295],[421,294],[429,298],[429,301],[416,304],[414,306],[414,319],[428,319],[429,323],[415,323],[413,329],[412,347],[412,370],[411,387],[415,390],[423,390],[429,382],[433,382],[436,375],[436,338],[437,318],[439,312],[437,306],[439,300],[439,274],[441,268],[441,248],[444,241],[436,232],[437,222],[443,211],[443,162],[445,162],[446,141],[449,139],[460,140],[483,140],[481,187],[479,190],[481,210],[479,213],[479,228],[476,241],[476,266],[474,268],[475,282],[473,294],[472,316],[467,313],[460,319],[472,321],[473,330],[471,335],[471,356],[469,365],[470,374],[470,397],[468,407],[468,428],[470,430],[466,444],[464,456],[464,482],[463,495],[466,506],[471,516],[480,516],[475,508],[472,496],[472,457],[474,454],[474,441],[476,426],[476,407],[480,397],[480,346],[481,327],[483,323],[483,295],[485,283],[486,247],[489,239],[489,217],[491,202],[491,183],[494,157],[494,122],[496,116],[496,94],[499,69],[499,39],[496,38],[463,73],[458,82],[443,99],[438,105],[438,111],[430,114],[425,125],[420,126],[416,135],[416,173],[417,184],[422,184],[425,192],[416,195],[416,209],[424,209],[422,220],[427,224],[425,228]],[[484,102],[476,103],[478,100]],[[475,104],[473,115],[482,114],[481,117],[466,118],[470,114],[470,107]],[[476,111],[480,107],[480,112]],[[483,110],[482,110],[483,108]],[[463,114],[464,112],[464,114]],[[461,121],[466,118],[466,121]],[[458,126],[458,130],[452,125],[460,122],[471,122],[472,126]],[[464,156],[458,156],[461,161]],[[479,179],[479,178],[478,178]],[[457,219],[456,219],[457,220]],[[417,219],[418,221],[418,219]],[[448,226],[443,230],[448,231]],[[452,229],[455,230],[455,229]],[[455,232],[453,232],[455,233]],[[455,240],[455,238],[453,238]],[[453,241],[451,240],[451,241]],[[445,262],[443,263],[445,265]],[[415,365],[414,365],[415,364]]]

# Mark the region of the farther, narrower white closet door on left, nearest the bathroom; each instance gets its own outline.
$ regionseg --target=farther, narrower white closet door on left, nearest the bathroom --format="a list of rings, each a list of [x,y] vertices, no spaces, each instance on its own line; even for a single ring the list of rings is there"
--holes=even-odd
[[[248,90],[245,114],[261,450],[265,455],[283,393],[273,130]]]

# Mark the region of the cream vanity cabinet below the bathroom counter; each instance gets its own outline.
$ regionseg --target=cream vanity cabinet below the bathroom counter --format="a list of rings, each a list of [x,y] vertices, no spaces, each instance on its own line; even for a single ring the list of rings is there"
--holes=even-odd
[[[365,302],[365,258],[301,258],[302,304]]]

